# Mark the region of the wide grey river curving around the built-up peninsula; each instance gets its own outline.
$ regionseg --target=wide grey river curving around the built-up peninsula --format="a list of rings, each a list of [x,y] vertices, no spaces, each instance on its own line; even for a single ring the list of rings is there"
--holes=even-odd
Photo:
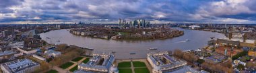
[[[222,33],[199,31],[190,29],[181,29],[184,35],[166,39],[166,40],[102,40],[97,38],[88,38],[69,33],[69,29],[53,30],[46,33],[40,33],[42,40],[51,44],[68,44],[84,48],[92,48],[94,52],[116,52],[115,57],[119,59],[146,58],[149,48],[158,48],[158,50],[196,50],[207,46],[207,41],[211,37],[226,38]],[[47,38],[51,39],[47,39]],[[59,40],[59,41],[58,41]],[[189,41],[185,41],[189,40]],[[135,54],[130,54],[135,53]]]

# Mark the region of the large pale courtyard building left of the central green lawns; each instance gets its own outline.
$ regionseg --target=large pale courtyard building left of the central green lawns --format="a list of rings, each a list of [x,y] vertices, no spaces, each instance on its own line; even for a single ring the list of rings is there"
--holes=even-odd
[[[79,72],[111,72],[110,68],[113,67],[115,57],[113,54],[93,54],[93,57],[86,64],[82,63],[78,65],[77,73]]]

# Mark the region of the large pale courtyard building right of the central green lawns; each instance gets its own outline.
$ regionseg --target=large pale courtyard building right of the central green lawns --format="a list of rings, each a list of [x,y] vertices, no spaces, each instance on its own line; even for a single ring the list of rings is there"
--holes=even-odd
[[[187,65],[187,62],[168,55],[167,51],[148,53],[148,62],[153,68],[153,73],[172,72],[175,68]]]

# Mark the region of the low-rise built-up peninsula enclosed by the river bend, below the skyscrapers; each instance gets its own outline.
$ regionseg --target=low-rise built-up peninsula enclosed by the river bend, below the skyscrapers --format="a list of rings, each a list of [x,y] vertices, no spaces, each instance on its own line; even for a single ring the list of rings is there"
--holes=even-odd
[[[108,29],[108,28],[79,28],[70,29],[73,35],[104,40],[165,40],[184,35],[184,31],[171,28],[145,29]]]

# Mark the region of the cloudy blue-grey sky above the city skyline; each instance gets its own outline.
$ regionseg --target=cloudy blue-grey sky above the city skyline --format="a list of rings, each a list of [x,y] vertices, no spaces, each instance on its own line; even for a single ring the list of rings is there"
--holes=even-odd
[[[0,23],[256,23],[256,0],[0,0]]]

